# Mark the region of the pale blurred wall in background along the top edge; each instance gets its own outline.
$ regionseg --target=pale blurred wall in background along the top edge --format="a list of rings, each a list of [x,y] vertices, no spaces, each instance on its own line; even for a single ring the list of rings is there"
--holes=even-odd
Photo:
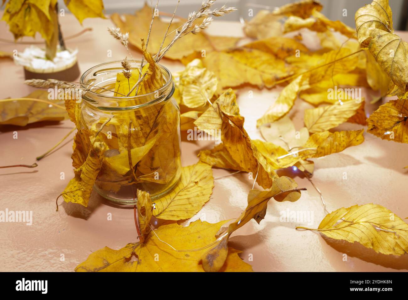
[[[156,4],[156,0],[147,0],[149,3]],[[401,17],[403,16],[403,4],[408,0],[390,0],[390,6],[393,13],[394,27],[398,29]],[[103,0],[106,13],[133,13],[136,9],[143,6],[144,0]],[[218,3],[217,3],[218,2]],[[238,11],[222,17],[224,20],[239,20],[240,17],[248,19],[248,9],[253,9],[255,13],[260,7],[281,6],[296,0],[218,0],[215,7],[220,7],[226,3],[227,6],[237,7]],[[341,20],[348,26],[355,27],[354,14],[359,7],[370,3],[371,0],[320,0],[323,4],[322,13],[331,20]],[[64,7],[64,2],[59,0],[60,7]],[[177,0],[160,0],[159,10],[173,13]],[[186,17],[189,12],[197,10],[201,6],[202,0],[181,0],[177,9],[177,16]],[[343,9],[347,9],[347,17],[343,17]]]

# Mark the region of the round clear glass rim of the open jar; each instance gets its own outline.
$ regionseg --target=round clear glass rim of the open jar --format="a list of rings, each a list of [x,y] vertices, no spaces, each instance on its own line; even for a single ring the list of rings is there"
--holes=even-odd
[[[132,62],[136,62],[136,63],[139,63],[139,64],[142,63],[141,60],[134,60],[134,61],[133,61],[133,60],[129,60],[129,61],[130,61],[131,63],[132,63]],[[89,68],[88,70],[86,70],[86,71],[85,71],[84,73],[82,73],[82,75],[81,75],[81,78],[80,78],[81,87],[83,87],[84,89],[87,88],[87,87],[86,87],[87,84],[84,83],[84,79],[85,79],[85,77],[86,77],[87,75],[89,75],[89,73],[91,73],[92,71],[96,72],[96,71],[98,71],[97,69],[101,69],[101,67],[103,67],[104,65],[114,64],[114,63],[119,63],[119,64],[120,64],[121,62],[122,62],[122,60],[112,60],[112,61],[110,61],[110,62],[104,62],[104,63],[102,63],[102,64],[97,64],[96,66],[93,66],[93,67]],[[135,100],[135,99],[142,99],[142,98],[146,98],[146,97],[148,97],[148,96],[154,95],[155,93],[157,93],[157,91],[159,91],[159,92],[164,91],[164,90],[166,90],[166,89],[169,88],[169,85],[170,85],[170,84],[174,84],[174,83],[173,83],[173,76],[171,75],[170,70],[167,69],[166,67],[164,67],[162,64],[157,64],[157,66],[160,67],[160,69],[161,69],[162,71],[165,71],[165,72],[168,74],[169,78],[167,79],[166,83],[165,83],[160,89],[157,89],[157,90],[155,90],[155,91],[153,91],[153,92],[150,92],[150,93],[147,93],[147,94],[143,94],[143,95],[129,96],[129,97],[106,96],[106,95],[103,95],[103,94],[95,93],[95,92],[93,92],[93,91],[86,91],[86,93],[90,93],[91,95],[94,95],[95,97],[105,98],[105,99],[110,99],[110,100]],[[173,93],[173,91],[174,91],[174,89],[172,88],[172,89],[170,90],[170,93]],[[153,99],[153,100],[151,100],[151,101],[148,101],[148,102],[143,103],[143,104],[139,104],[139,105],[137,105],[137,106],[138,106],[138,107],[148,106],[148,105],[152,104],[152,102],[155,102],[155,100],[156,100],[156,99]]]

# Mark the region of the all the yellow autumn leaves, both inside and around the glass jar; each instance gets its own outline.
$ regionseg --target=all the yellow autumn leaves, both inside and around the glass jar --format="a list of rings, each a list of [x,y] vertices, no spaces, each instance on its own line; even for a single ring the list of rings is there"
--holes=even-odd
[[[42,12],[44,24],[49,24],[47,9],[52,3],[55,5],[50,0],[24,5],[33,6],[33,12]],[[81,22],[84,16],[102,13],[98,6],[79,0],[69,5],[74,11],[75,7],[82,7],[81,13],[76,14]],[[39,26],[35,22],[31,22],[31,31],[21,31],[17,22],[20,9],[9,2],[7,16],[3,17],[15,28],[16,38],[35,31],[44,37],[52,34],[46,32],[48,27],[35,27]],[[67,202],[86,206],[94,185],[110,191],[132,186],[138,199],[140,225],[138,242],[119,250],[105,247],[95,251],[75,271],[252,271],[239,258],[240,251],[228,245],[230,236],[251,219],[259,224],[271,198],[294,202],[304,190],[292,178],[279,177],[277,170],[293,167],[310,179],[314,158],[358,146],[364,142],[365,125],[367,132],[381,139],[408,143],[408,44],[393,33],[388,1],[376,0],[359,9],[355,15],[356,30],[329,20],[321,10],[322,5],[315,0],[263,10],[244,26],[246,35],[253,38],[251,42],[237,46],[237,38],[214,37],[200,31],[183,37],[166,53],[166,58],[180,60],[186,66],[173,74],[174,98],[182,112],[181,130],[196,127],[209,135],[221,133],[217,136],[221,143],[200,151],[199,161],[181,168],[180,174],[175,174],[180,169],[179,141],[173,138],[177,137],[178,109],[165,104],[137,118],[124,112],[101,118],[86,129],[80,124],[80,105],[75,100],[65,102],[78,131],[72,155],[75,177],[61,196]],[[155,17],[146,48],[143,38],[149,31],[151,15],[152,8],[145,5],[124,19],[118,14],[111,16],[123,33],[129,32],[129,42],[142,51],[147,62],[142,70],[147,75],[131,96],[156,91],[164,85],[154,55],[169,24]],[[27,18],[34,17],[31,14]],[[170,25],[164,47],[184,21]],[[285,35],[298,30],[302,31],[294,38]],[[320,39],[317,51],[302,43],[302,34],[310,31]],[[338,35],[344,40],[337,39]],[[140,74],[135,70],[131,75],[129,78],[118,73],[115,96],[128,93]],[[264,140],[251,139],[233,88],[239,95],[244,86],[269,89],[277,85],[281,88],[279,96],[271,100],[256,124]],[[379,96],[370,104],[387,95],[398,99],[382,104],[367,119],[365,107],[370,104],[353,87],[378,91]],[[304,125],[297,129],[290,112],[300,101],[298,98],[313,107],[305,109]],[[131,105],[140,104],[131,101]],[[6,105],[2,103],[0,106]],[[119,107],[125,105],[129,103],[118,101]],[[14,114],[7,108],[3,110],[8,114],[1,122],[7,124],[24,125],[48,116],[48,110],[35,116],[33,109],[27,112],[23,107]],[[359,129],[336,129],[344,122],[354,123]],[[112,139],[106,136],[107,128],[114,133]],[[178,221],[192,218],[210,200],[214,187],[212,167],[246,172],[263,190],[249,191],[248,205],[237,219],[216,224],[197,220],[182,227]],[[160,173],[158,179],[156,172]],[[173,189],[160,198],[152,200],[145,191],[149,184],[166,185],[178,175],[180,180],[173,182]],[[153,222],[155,218],[166,221],[153,227],[153,223],[157,224]],[[317,229],[297,228],[359,242],[377,253],[402,255],[408,249],[408,224],[378,204],[340,208],[329,213]]]

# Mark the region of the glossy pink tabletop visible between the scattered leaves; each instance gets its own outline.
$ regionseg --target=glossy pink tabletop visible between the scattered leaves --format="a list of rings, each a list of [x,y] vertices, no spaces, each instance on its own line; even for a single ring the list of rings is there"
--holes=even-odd
[[[82,27],[67,15],[61,19],[65,36],[77,33]],[[78,47],[80,70],[110,60],[120,60],[126,50],[113,40],[106,31],[110,20],[86,19],[84,27],[92,27],[67,46]],[[215,22],[209,32],[218,35],[242,36],[241,24],[237,22]],[[2,38],[12,39],[5,22],[0,22]],[[400,32],[408,40],[408,33]],[[29,38],[24,38],[30,41]],[[316,42],[316,41],[311,41]],[[22,51],[26,45],[0,42],[0,50]],[[106,53],[112,51],[112,57]],[[133,51],[135,58],[140,53]],[[181,63],[163,60],[171,71],[183,69]],[[24,74],[11,60],[0,61],[0,98],[21,97],[33,89],[22,82]],[[254,98],[248,98],[253,90]],[[245,87],[238,90],[240,111],[246,118],[245,128],[251,138],[261,138],[256,129],[256,120],[276,99],[279,89],[256,89]],[[364,96],[364,95],[363,95]],[[370,97],[366,95],[366,99]],[[367,101],[369,102],[369,101]],[[377,105],[366,104],[371,113]],[[310,105],[297,100],[290,117],[296,128],[302,127],[303,110]],[[27,127],[3,127],[0,129],[0,165],[32,164],[35,157],[50,149],[74,127],[70,121],[60,123],[32,124]],[[355,124],[342,124],[337,129],[359,129]],[[18,139],[13,139],[13,131]],[[182,164],[197,162],[201,149],[211,148],[212,142],[187,141],[182,134]],[[366,138],[373,138],[365,133]],[[322,191],[327,208],[333,211],[354,204],[381,204],[401,218],[408,216],[406,193],[408,165],[407,144],[367,140],[357,147],[327,157],[314,159],[313,182]],[[55,153],[38,162],[35,169],[0,169],[0,210],[33,211],[33,224],[0,223],[0,271],[73,271],[88,255],[104,246],[119,249],[136,239],[131,208],[115,207],[96,192],[91,196],[88,208],[64,203],[55,211],[55,198],[62,192],[73,176],[71,165],[72,140],[67,140]],[[65,180],[60,179],[65,173]],[[347,172],[347,180],[343,173]],[[227,175],[230,171],[214,169],[214,177]],[[280,222],[279,212],[286,209],[313,212],[313,224],[317,227],[324,218],[319,194],[300,173],[279,171],[297,181],[308,190],[294,203],[271,200],[265,219],[258,225],[251,221],[236,231],[230,244],[242,250],[240,254],[254,271],[406,271],[408,255],[401,257],[377,254],[360,244],[322,238],[311,231],[296,231],[296,222]],[[253,182],[248,175],[239,173],[216,179],[211,200],[191,220],[198,218],[207,222],[237,218],[246,207],[246,198]],[[60,200],[62,202],[62,200]],[[107,214],[112,213],[112,220]],[[186,222],[187,223],[187,222]],[[343,260],[343,253],[348,256]],[[64,254],[64,261],[60,260]],[[248,261],[250,254],[253,261]]]

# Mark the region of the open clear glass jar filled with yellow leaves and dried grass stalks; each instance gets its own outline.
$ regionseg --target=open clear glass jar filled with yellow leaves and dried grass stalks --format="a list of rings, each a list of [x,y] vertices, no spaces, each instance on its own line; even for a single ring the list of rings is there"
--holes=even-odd
[[[132,71],[140,68],[140,61],[129,62]],[[94,188],[120,204],[135,204],[137,189],[159,198],[180,178],[180,109],[170,71],[158,66],[165,84],[144,95],[112,92],[123,71],[120,60],[92,67],[80,79],[82,88],[91,89],[82,96],[80,127],[106,144]]]

